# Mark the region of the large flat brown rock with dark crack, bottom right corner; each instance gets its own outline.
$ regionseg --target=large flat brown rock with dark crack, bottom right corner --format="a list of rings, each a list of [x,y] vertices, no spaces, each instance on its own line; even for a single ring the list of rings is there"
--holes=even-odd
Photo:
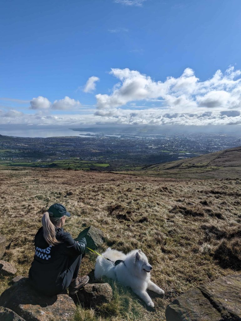
[[[166,321],[241,321],[241,274],[191,289],[166,308]]]

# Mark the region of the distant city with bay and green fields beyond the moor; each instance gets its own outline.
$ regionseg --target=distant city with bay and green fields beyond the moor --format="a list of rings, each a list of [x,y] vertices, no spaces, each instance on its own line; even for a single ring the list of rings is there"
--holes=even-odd
[[[0,135],[0,165],[128,170],[241,145],[239,133],[110,135],[86,131],[86,135],[81,136],[26,138]]]

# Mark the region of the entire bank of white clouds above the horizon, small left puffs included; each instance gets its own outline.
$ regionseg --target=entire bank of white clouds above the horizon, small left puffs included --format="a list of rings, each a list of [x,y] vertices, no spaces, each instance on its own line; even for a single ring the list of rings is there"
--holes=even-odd
[[[112,90],[95,95],[94,113],[83,113],[79,100],[66,96],[51,103],[39,96],[30,101],[24,114],[0,109],[2,124],[77,125],[77,124],[150,124],[150,125],[238,125],[241,124],[241,71],[230,66],[217,70],[212,78],[200,81],[191,68],[180,77],[155,81],[128,68],[113,68],[117,79]],[[98,77],[92,76],[84,92],[95,90]],[[57,110],[68,114],[51,114]],[[69,113],[72,113],[71,115]]]

